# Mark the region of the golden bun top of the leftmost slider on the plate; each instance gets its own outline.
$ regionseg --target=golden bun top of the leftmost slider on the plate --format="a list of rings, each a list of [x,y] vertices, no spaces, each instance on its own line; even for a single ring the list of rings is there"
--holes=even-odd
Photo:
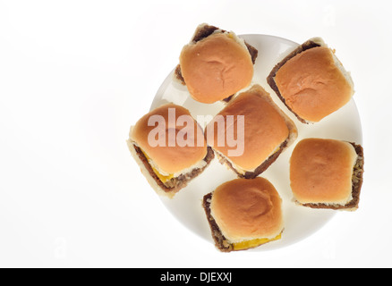
[[[171,118],[173,112],[175,116]],[[158,116],[153,117],[153,115]],[[157,122],[159,118],[161,120]],[[184,126],[194,131],[187,132]],[[149,136],[152,145],[157,145],[159,134],[164,136],[159,141],[162,143],[161,146],[151,146]],[[200,126],[189,111],[179,105],[162,105],[141,117],[132,127],[130,138],[141,147],[144,154],[153,161],[154,167],[162,173],[181,172],[197,164],[207,155],[207,144]]]

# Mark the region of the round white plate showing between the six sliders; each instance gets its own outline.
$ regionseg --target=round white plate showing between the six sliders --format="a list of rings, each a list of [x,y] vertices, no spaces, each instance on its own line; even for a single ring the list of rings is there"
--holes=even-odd
[[[294,50],[298,44],[285,38],[266,35],[242,35],[241,37],[259,50],[259,55],[254,65],[255,72],[252,83],[258,83],[265,88],[285,114],[293,119],[298,128],[298,139],[294,142],[294,145],[287,148],[266,172],[260,174],[261,177],[268,179],[268,181],[274,184],[283,199],[285,231],[282,239],[249,251],[283,248],[303,240],[315,231],[320,230],[336,214],[336,211],[333,210],[296,206],[292,201],[292,192],[289,184],[289,158],[295,144],[301,139],[310,137],[342,139],[362,144],[361,121],[352,99],[343,108],[334,114],[330,114],[321,122],[313,125],[299,122],[283,105],[275,92],[269,88],[266,80],[275,64]],[[187,88],[173,79],[174,71],[167,76],[158,89],[151,109],[167,102],[173,102],[176,105],[183,105],[188,108],[196,118],[200,114],[217,114],[224,107],[224,104],[220,102],[212,105],[196,102],[190,97]],[[216,189],[221,183],[235,178],[233,171],[228,170],[225,165],[219,164],[217,159],[214,159],[209,167],[199,177],[191,181],[185,189],[177,193],[175,198],[161,198],[161,200],[179,223],[201,238],[211,241],[212,246],[213,240],[206,215],[201,206],[201,200],[205,194]]]

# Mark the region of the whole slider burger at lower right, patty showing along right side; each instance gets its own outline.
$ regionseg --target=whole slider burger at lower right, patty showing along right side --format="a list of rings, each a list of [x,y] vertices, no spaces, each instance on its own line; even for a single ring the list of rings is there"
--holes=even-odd
[[[297,204],[354,211],[363,174],[363,149],[335,139],[303,139],[290,159],[290,185]]]

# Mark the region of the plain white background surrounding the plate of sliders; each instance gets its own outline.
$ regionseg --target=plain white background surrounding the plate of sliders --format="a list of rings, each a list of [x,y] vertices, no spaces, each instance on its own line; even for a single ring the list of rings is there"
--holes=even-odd
[[[387,5],[0,0],[0,266],[392,266]],[[337,49],[362,119],[357,212],[287,248],[224,254],[167,211],[125,139],[201,22]]]

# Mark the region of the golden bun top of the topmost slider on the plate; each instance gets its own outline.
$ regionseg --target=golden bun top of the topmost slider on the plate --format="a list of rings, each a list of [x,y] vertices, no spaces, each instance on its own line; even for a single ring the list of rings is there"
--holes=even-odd
[[[217,32],[183,46],[183,80],[196,101],[212,104],[251,84],[253,63],[243,40],[233,32]]]

